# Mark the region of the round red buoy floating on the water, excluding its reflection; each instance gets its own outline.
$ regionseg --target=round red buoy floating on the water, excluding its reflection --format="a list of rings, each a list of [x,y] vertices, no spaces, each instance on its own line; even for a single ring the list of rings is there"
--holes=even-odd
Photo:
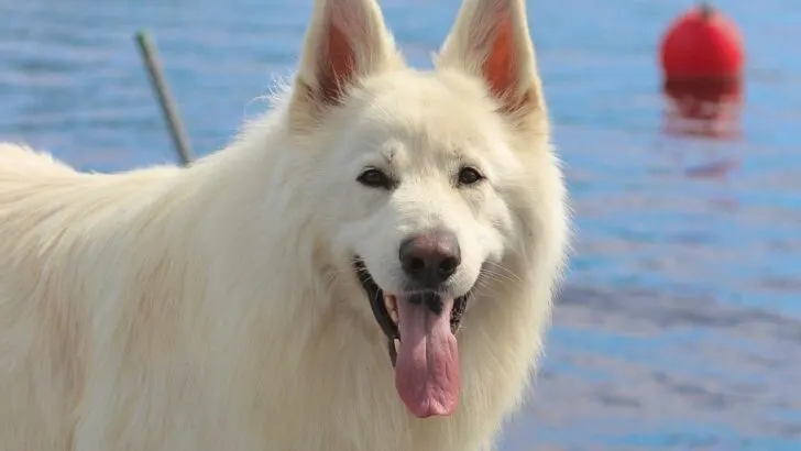
[[[743,40],[735,24],[706,3],[679,16],[660,48],[665,81],[738,82]]]

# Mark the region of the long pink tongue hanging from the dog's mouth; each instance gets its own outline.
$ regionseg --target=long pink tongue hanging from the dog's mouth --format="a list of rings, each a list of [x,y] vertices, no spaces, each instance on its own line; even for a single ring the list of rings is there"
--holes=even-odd
[[[437,316],[425,302],[398,298],[401,348],[395,387],[406,407],[419,418],[451,415],[459,403],[459,349],[450,330],[453,299],[443,299]]]

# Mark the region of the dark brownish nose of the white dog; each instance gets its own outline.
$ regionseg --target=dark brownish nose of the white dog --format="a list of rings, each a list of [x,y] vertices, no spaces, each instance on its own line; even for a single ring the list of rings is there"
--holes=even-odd
[[[404,240],[398,256],[406,274],[428,289],[448,280],[462,262],[456,235],[442,230]]]

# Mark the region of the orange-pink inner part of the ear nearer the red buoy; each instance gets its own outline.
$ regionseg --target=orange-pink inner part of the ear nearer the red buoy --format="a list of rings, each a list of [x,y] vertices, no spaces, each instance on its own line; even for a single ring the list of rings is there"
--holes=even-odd
[[[512,19],[506,12],[501,14],[482,69],[492,94],[503,100],[504,111],[512,112],[526,102],[528,95],[517,92],[519,50],[515,42]]]

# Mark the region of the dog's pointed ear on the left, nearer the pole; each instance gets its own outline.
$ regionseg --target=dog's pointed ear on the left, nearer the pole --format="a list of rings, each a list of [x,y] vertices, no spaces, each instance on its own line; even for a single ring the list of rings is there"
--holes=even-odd
[[[341,103],[361,78],[399,64],[375,0],[316,0],[295,78],[293,113],[319,116]]]

